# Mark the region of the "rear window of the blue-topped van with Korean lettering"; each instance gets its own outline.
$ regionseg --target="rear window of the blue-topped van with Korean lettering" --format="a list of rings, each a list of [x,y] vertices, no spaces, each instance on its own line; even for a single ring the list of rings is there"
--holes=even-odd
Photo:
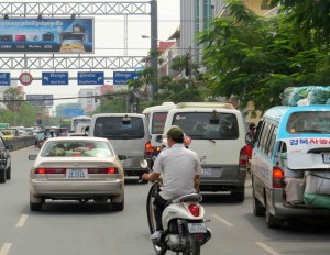
[[[330,111],[295,112],[287,122],[288,133],[329,134]]]

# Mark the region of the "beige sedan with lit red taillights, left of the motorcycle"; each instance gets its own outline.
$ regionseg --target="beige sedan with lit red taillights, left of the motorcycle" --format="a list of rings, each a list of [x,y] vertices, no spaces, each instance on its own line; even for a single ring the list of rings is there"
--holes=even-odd
[[[124,176],[119,157],[107,138],[67,136],[48,138],[30,173],[30,209],[41,211],[48,200],[111,201],[124,208]]]

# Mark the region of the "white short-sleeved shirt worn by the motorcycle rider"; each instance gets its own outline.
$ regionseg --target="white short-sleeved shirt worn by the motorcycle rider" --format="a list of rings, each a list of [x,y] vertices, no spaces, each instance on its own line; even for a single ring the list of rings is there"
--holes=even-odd
[[[153,171],[163,174],[164,188],[160,195],[168,200],[196,192],[194,177],[200,175],[201,166],[197,153],[176,143],[158,154]]]

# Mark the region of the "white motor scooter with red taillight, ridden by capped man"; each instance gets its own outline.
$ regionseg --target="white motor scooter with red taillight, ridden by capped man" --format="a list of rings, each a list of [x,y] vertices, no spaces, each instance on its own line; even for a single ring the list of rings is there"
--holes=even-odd
[[[148,168],[145,159],[141,160],[142,168]],[[151,169],[148,168],[151,171]],[[146,213],[150,233],[156,230],[154,217],[154,198],[162,190],[162,179],[153,182],[146,199]],[[200,204],[201,195],[190,193],[169,200],[165,208],[160,240],[153,240],[157,255],[166,254],[167,250],[184,255],[199,255],[200,247],[211,239],[211,230],[207,228],[205,209]]]

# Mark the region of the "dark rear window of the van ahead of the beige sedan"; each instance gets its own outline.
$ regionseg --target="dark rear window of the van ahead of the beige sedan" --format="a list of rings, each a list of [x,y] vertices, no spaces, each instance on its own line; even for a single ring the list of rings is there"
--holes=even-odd
[[[96,120],[94,135],[112,140],[143,138],[143,120],[136,117],[100,117]]]

